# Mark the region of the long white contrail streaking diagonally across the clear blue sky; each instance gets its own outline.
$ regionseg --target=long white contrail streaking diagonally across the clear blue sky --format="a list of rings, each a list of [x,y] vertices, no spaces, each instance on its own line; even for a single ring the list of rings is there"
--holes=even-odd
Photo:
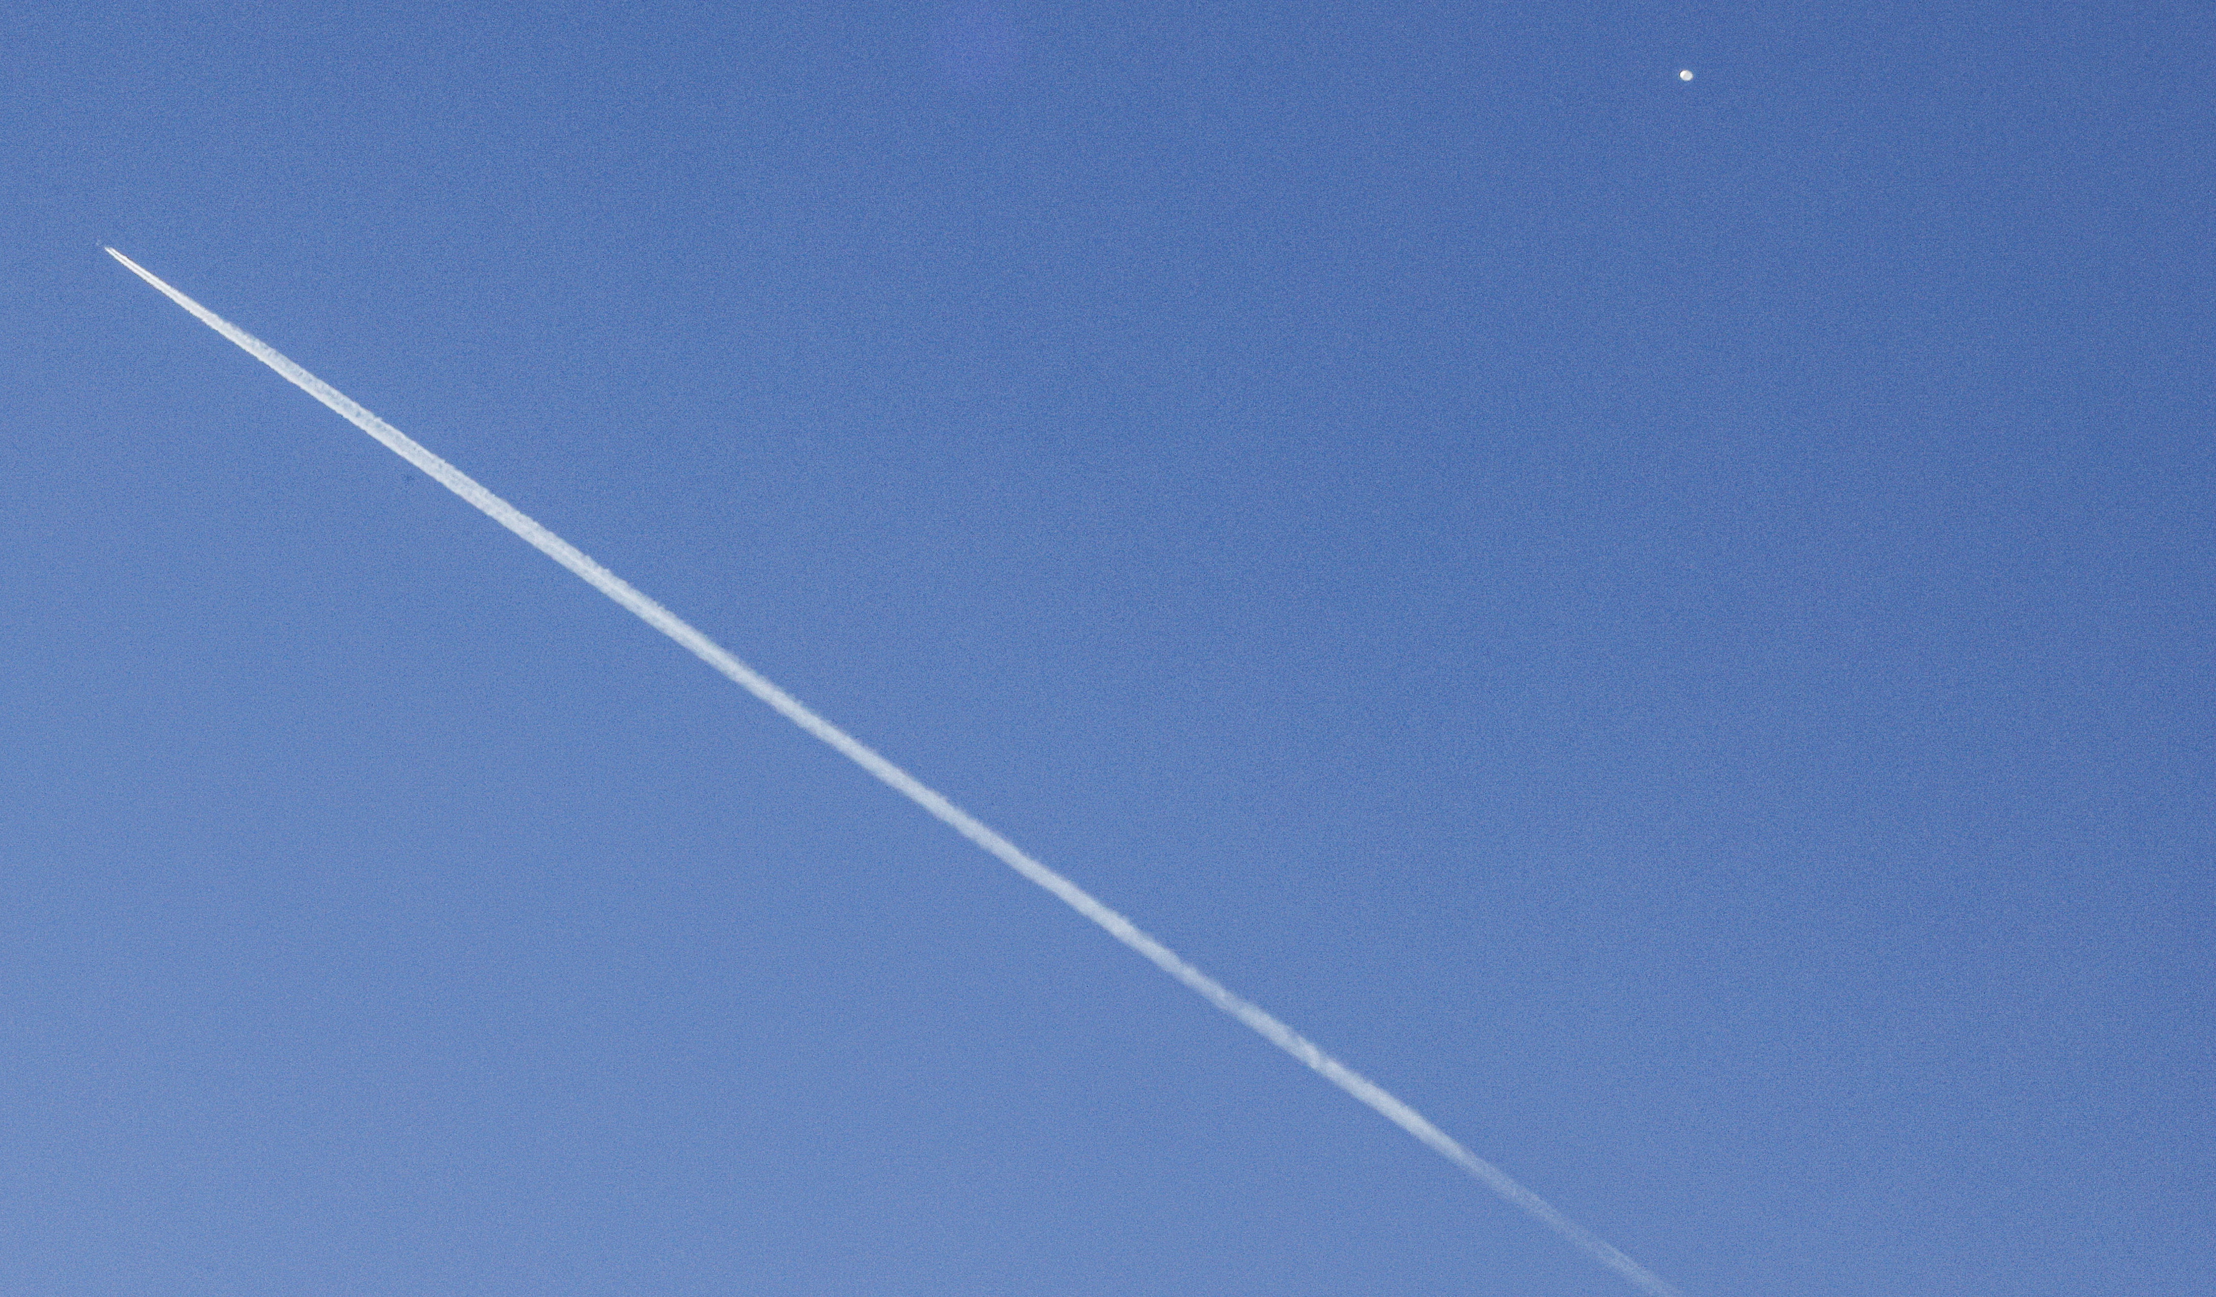
[[[1108,909],[1099,900],[1092,900],[1092,896],[1086,893],[1081,887],[1077,887],[1061,874],[1055,874],[1046,865],[1039,865],[1037,860],[1019,851],[1015,842],[1002,838],[962,807],[953,805],[937,792],[924,787],[924,783],[917,780],[913,774],[878,756],[873,749],[864,747],[858,738],[853,738],[838,725],[824,721],[815,712],[809,712],[804,705],[800,705],[798,698],[771,685],[767,678],[756,674],[753,667],[725,652],[716,641],[687,625],[683,619],[678,619],[660,603],[654,603],[652,599],[634,590],[629,581],[594,563],[583,550],[578,550],[570,541],[563,541],[554,532],[541,528],[538,523],[527,519],[521,510],[516,510],[512,503],[476,486],[476,481],[470,479],[470,474],[465,474],[463,470],[439,459],[430,450],[423,450],[421,446],[414,443],[412,437],[408,437],[392,423],[386,423],[377,415],[370,415],[368,410],[357,406],[352,399],[348,399],[343,392],[339,392],[324,379],[310,375],[290,359],[281,357],[259,337],[215,315],[213,310],[208,310],[199,302],[193,302],[184,293],[177,293],[175,288],[151,275],[144,266],[140,266],[131,257],[117,253],[115,248],[106,248],[106,253],[117,262],[122,262],[124,266],[129,266],[133,275],[160,288],[164,297],[197,315],[202,324],[206,324],[215,333],[222,333],[230,341],[246,348],[250,357],[284,375],[293,386],[297,386],[317,401],[324,401],[326,406],[343,415],[348,423],[383,441],[388,450],[392,450],[408,463],[414,463],[423,472],[432,474],[434,479],[439,479],[441,486],[445,486],[461,499],[485,510],[485,514],[490,514],[492,521],[501,523],[510,532],[536,545],[541,554],[576,572],[594,590],[607,594],[616,603],[636,612],[640,621],[667,634],[669,639],[678,641],[680,645],[691,650],[700,661],[716,667],[725,676],[731,676],[742,690],[776,707],[787,721],[835,747],[849,760],[853,760],[869,774],[891,785],[897,794],[924,807],[926,811],[944,820],[948,827],[953,827],[957,834],[997,856],[1008,869],[1015,869],[1024,878],[1030,878],[1039,887],[1059,896],[1070,909],[1108,929],[1108,936],[1139,951],[1141,956],[1152,960],[1155,967],[1159,967],[1163,973],[1170,973],[1179,982],[1192,987],[1210,1004],[1230,1013],[1239,1022],[1245,1022],[1263,1040],[1283,1049],[1292,1058],[1299,1058],[1303,1064],[1312,1066],[1334,1086],[1369,1104],[1394,1126],[1401,1126],[1409,1135],[1429,1144],[1447,1162],[1454,1162],[1456,1166],[1474,1175],[1480,1184],[1485,1184],[1500,1197],[1509,1199],[1511,1204],[1520,1206],[1533,1219],[1538,1219],[1553,1233],[1576,1244],[1589,1257],[1629,1279],[1635,1288],[1651,1293],[1653,1297],[1680,1297],[1678,1288],[1664,1284],[1653,1270],[1640,1266],[1624,1253],[1615,1250],[1609,1242],[1596,1237],[1591,1230],[1587,1230],[1578,1222],[1556,1211],[1540,1195],[1531,1193],[1522,1184],[1516,1184],[1507,1171],[1500,1171],[1491,1162],[1456,1144],[1451,1135],[1427,1122],[1423,1113],[1392,1097],[1369,1078],[1361,1075],[1358,1071],[1350,1069],[1336,1058],[1323,1053],[1299,1031],[1285,1027],[1270,1013],[1263,1013],[1259,1007],[1230,993],[1221,982],[1194,969],[1186,960],[1177,958],[1177,951],[1139,931],[1139,927],[1132,925],[1128,918]]]

